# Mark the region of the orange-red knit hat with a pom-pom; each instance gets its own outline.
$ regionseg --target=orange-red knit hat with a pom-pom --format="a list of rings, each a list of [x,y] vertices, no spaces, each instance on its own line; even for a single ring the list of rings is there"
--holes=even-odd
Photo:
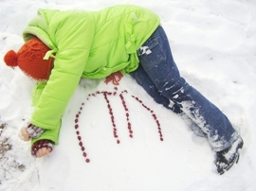
[[[38,38],[32,38],[25,43],[16,54],[13,50],[4,57],[8,66],[19,66],[29,77],[36,80],[47,80],[53,67],[53,59],[44,60],[50,49]]]

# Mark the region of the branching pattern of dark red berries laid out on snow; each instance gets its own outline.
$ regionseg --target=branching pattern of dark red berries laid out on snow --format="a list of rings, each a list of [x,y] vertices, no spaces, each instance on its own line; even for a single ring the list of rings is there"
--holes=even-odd
[[[108,111],[109,111],[109,114],[111,116],[111,122],[112,122],[112,126],[113,126],[113,133],[114,133],[114,137],[117,139],[117,144],[120,143],[119,141],[119,135],[118,135],[118,130],[117,130],[117,126],[116,126],[116,123],[115,123],[115,116],[114,116],[114,113],[113,113],[113,109],[110,105],[110,101],[108,99],[108,96],[116,96],[117,95],[117,91],[118,91],[118,88],[115,87],[115,92],[112,93],[112,92],[106,92],[106,91],[103,91],[103,92],[99,92],[97,91],[96,94],[91,94],[91,95],[88,95],[87,96],[87,100],[89,100],[89,97],[90,96],[96,96],[96,95],[100,95],[102,94],[104,96],[104,99],[107,103],[107,108],[108,108]],[[129,136],[131,138],[134,137],[133,135],[133,130],[132,130],[132,125],[131,125],[131,122],[130,122],[130,115],[129,115],[129,110],[127,108],[127,105],[126,105],[126,102],[124,100],[124,97],[123,97],[123,94],[126,93],[128,94],[128,92],[126,90],[122,91],[120,94],[119,94],[119,97],[120,97],[120,100],[121,100],[121,103],[122,103],[122,106],[124,108],[124,111],[125,111],[125,115],[126,115],[126,121],[127,121],[127,128],[129,130]],[[132,96],[133,98],[135,98],[137,100],[137,102],[139,102],[147,111],[149,111],[154,120],[155,120],[155,123],[157,125],[157,129],[158,129],[158,133],[159,133],[159,137],[160,137],[160,141],[163,141],[163,135],[162,135],[162,131],[161,131],[161,127],[160,127],[160,123],[154,113],[153,110],[151,110],[149,107],[147,107],[137,96]],[[82,108],[84,106],[84,103],[82,102],[81,104],[81,107],[80,107],[80,111],[76,114],[76,119],[75,119],[75,130],[76,130],[76,133],[77,133],[77,138],[79,140],[79,146],[81,147],[81,150],[82,150],[82,156],[85,158],[85,162],[86,163],[89,163],[90,162],[90,159],[87,158],[87,153],[85,152],[85,148],[82,144],[82,136],[80,134],[80,131],[79,131],[79,117],[80,117],[80,114],[82,113]]]

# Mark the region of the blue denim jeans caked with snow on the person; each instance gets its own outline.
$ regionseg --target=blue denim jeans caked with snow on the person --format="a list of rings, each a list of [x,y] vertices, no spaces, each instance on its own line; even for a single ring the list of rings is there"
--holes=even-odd
[[[180,77],[162,26],[142,44],[137,56],[140,63],[131,74],[137,83],[155,102],[192,119],[214,151],[229,148],[240,137],[227,116]]]

